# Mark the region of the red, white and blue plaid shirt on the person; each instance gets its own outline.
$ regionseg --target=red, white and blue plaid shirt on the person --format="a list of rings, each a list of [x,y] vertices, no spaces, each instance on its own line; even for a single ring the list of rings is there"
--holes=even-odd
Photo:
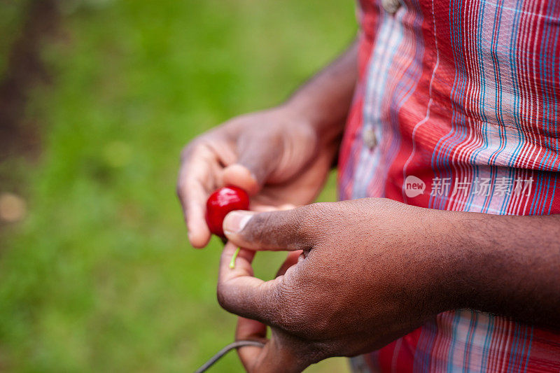
[[[358,17],[340,199],[560,213],[559,0],[401,0],[394,14],[362,0]],[[560,335],[456,310],[360,362],[381,372],[559,372]]]

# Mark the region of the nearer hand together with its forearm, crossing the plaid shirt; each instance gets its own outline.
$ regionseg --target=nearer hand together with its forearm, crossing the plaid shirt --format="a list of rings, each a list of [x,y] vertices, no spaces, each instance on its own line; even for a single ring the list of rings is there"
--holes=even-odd
[[[224,220],[218,301],[239,319],[248,372],[298,372],[373,351],[451,309],[560,325],[559,216],[437,211],[388,199],[234,211]],[[507,233],[505,233],[507,232]],[[228,263],[237,246],[235,269]],[[253,277],[255,250],[293,255]],[[300,255],[301,253],[301,255]],[[299,255],[295,258],[295,255]]]

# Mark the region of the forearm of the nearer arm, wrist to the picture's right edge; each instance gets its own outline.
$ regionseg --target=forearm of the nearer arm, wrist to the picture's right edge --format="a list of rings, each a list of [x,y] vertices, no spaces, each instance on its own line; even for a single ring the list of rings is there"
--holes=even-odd
[[[560,327],[560,216],[446,215],[457,307]]]

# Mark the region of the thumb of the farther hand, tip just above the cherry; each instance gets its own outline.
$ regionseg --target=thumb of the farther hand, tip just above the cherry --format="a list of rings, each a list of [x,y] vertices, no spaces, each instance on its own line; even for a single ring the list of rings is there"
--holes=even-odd
[[[225,167],[223,182],[255,195],[279,165],[281,144],[275,142],[267,132],[241,136],[237,142],[239,159],[237,163]]]

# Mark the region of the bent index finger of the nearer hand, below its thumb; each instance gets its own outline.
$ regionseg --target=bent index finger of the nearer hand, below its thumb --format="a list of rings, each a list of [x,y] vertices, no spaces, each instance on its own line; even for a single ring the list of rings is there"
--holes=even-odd
[[[262,281],[253,276],[251,260],[255,251],[241,249],[235,267],[230,261],[237,246],[228,242],[223,248],[218,276],[218,302],[223,309],[268,325],[277,324],[283,277]]]

